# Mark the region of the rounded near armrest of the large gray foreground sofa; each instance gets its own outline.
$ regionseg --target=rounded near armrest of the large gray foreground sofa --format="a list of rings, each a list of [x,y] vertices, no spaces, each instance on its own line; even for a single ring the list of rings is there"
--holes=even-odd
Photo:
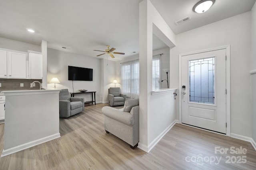
[[[111,119],[122,122],[126,125],[132,126],[134,124],[134,116],[129,112],[124,112],[113,107],[104,106],[102,108],[102,113]]]

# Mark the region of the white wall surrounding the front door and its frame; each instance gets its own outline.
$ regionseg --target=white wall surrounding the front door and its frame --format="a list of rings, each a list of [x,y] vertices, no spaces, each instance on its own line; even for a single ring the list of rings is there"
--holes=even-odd
[[[176,35],[171,53],[171,87],[178,87],[178,55],[224,45],[231,46],[231,133],[252,136],[250,35],[251,13],[227,18]],[[177,113],[178,114],[178,113]],[[177,115],[178,116],[178,115]]]

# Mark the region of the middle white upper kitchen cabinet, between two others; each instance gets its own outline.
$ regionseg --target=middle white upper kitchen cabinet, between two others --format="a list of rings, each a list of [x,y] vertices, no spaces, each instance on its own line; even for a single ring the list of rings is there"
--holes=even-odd
[[[26,79],[26,53],[8,51],[8,78]]]

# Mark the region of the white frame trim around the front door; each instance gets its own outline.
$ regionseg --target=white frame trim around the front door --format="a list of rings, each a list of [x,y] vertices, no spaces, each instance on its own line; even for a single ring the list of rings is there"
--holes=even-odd
[[[181,82],[181,61],[183,56],[192,55],[192,54],[198,54],[198,53],[205,53],[209,51],[216,51],[216,50],[226,50],[226,122],[227,122],[227,128],[226,128],[226,136],[230,137],[230,130],[231,130],[231,120],[230,120],[230,45],[221,46],[221,47],[215,47],[211,49],[205,49],[200,51],[194,51],[190,53],[184,53],[179,55],[179,122],[182,124],[182,82]],[[205,130],[205,129],[203,129]],[[207,130],[208,131],[208,130]]]

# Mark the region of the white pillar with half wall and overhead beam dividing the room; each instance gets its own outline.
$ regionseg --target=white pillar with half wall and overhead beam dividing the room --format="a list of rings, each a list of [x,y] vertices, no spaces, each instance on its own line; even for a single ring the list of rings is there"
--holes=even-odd
[[[151,95],[152,91],[152,34],[166,45],[175,45],[175,35],[149,0],[140,2],[140,142],[139,148],[149,152],[161,135],[175,121],[174,98],[170,93]],[[170,46],[169,46],[170,47]]]

